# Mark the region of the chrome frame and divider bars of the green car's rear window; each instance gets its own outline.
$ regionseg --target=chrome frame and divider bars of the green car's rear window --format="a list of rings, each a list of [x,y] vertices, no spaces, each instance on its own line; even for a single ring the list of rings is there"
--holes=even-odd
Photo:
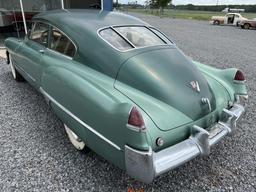
[[[156,35],[159,39],[161,39],[165,44],[164,45],[148,45],[148,46],[142,46],[142,47],[136,47],[132,44],[132,42],[130,42],[127,38],[125,38],[121,33],[119,33],[117,30],[115,30],[116,27],[145,27],[147,28],[148,30],[150,30],[154,35]],[[159,35],[157,35],[156,33],[154,33],[150,28],[152,29],[155,29],[157,31],[159,31],[159,33],[161,33],[166,39],[168,39],[168,42],[166,42],[165,40],[163,40],[161,37],[159,37]],[[111,43],[109,43],[107,40],[105,40],[100,32],[105,30],[105,29],[112,29],[114,32],[116,32],[122,39],[124,39],[124,41],[126,41],[129,45],[131,45],[133,48],[131,49],[127,49],[127,50],[120,50],[118,48],[116,48],[115,46],[113,46]],[[175,45],[166,35],[164,35],[160,30],[158,30],[157,28],[155,27],[152,27],[150,25],[141,25],[141,24],[131,24],[131,25],[111,25],[111,26],[105,26],[105,27],[102,27],[102,28],[99,28],[97,30],[97,35],[103,40],[105,41],[108,45],[110,45],[112,48],[114,48],[115,50],[119,51],[119,52],[122,52],[122,53],[125,53],[125,52],[128,52],[128,51],[132,51],[132,50],[137,50],[137,49],[143,49],[143,48],[147,48],[147,47],[155,47],[155,46],[170,46],[170,45]]]

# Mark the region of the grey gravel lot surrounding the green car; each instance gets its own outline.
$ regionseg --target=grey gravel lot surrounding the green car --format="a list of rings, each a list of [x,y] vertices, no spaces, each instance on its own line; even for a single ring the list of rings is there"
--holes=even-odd
[[[0,60],[0,191],[256,191],[256,30],[137,15],[197,61],[241,68],[250,104],[233,137],[145,185],[93,152],[76,151],[43,97]]]

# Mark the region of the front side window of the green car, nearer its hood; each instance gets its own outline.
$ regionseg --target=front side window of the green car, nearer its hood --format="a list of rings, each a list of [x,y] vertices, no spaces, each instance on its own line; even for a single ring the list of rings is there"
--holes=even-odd
[[[45,23],[33,24],[29,39],[47,47],[49,26]]]

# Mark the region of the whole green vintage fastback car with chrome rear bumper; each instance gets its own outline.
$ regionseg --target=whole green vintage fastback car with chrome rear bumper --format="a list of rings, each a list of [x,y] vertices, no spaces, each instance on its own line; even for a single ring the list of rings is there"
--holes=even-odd
[[[42,93],[77,149],[145,183],[209,155],[236,128],[248,97],[240,70],[194,62],[121,13],[42,13],[23,41],[5,45],[14,79]]]

